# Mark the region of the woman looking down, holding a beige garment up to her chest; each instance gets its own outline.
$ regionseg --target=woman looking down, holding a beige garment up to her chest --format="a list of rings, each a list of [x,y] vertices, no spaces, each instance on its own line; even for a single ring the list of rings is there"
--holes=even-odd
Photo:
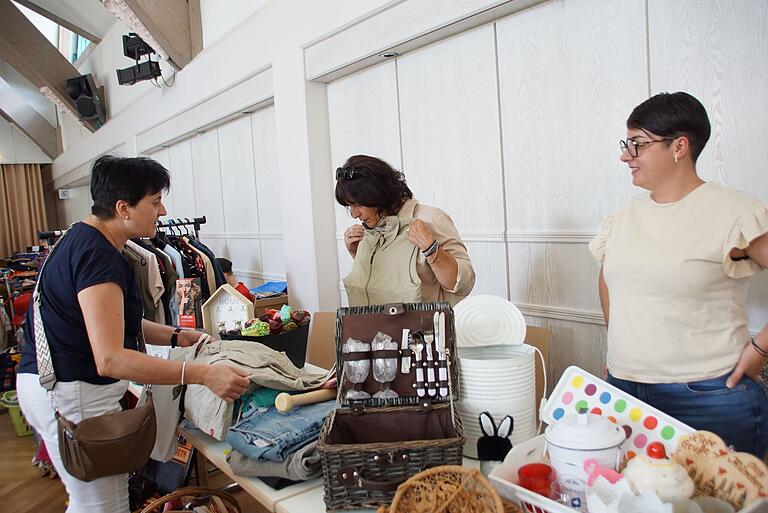
[[[355,155],[336,170],[336,201],[360,221],[344,232],[355,259],[344,278],[350,306],[448,301],[475,285],[467,248],[451,218],[422,205],[399,171]]]

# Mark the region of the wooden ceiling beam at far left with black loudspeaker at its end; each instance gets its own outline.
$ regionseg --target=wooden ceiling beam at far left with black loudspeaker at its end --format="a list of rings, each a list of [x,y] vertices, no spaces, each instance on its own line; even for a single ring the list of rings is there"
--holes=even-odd
[[[0,0],[0,58],[32,82],[38,89],[50,89],[57,100],[77,112],[67,94],[65,81],[80,72],[56,49],[11,0]],[[104,99],[101,99],[104,101]],[[106,104],[105,104],[106,105]],[[96,120],[82,120],[91,132]]]

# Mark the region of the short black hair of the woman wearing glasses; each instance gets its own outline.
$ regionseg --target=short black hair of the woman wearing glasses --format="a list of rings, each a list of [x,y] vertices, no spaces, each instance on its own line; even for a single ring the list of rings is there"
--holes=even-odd
[[[661,137],[688,137],[694,162],[712,130],[701,102],[682,91],[659,93],[645,100],[627,118],[627,128],[642,128]]]

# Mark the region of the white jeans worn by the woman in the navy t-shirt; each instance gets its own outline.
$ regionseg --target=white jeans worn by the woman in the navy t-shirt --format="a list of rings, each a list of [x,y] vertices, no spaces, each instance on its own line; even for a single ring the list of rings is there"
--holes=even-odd
[[[56,418],[48,392],[37,374],[18,374],[16,392],[27,422],[45,441],[45,447],[69,494],[67,513],[129,513],[128,474],[102,477],[90,482],[70,475],[61,462]],[[119,401],[128,389],[127,381],[92,385],[83,381],[56,383],[54,401],[59,413],[71,420],[95,417],[120,409]]]

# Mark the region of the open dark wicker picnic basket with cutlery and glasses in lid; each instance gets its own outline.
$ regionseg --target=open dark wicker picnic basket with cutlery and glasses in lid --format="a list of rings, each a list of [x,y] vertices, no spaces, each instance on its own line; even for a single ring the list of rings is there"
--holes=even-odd
[[[436,312],[444,314],[439,324]],[[443,326],[444,345],[435,340],[436,334],[440,338],[438,326]],[[404,329],[410,332],[406,343],[402,342]],[[348,338],[370,342],[377,332],[391,336],[400,349],[370,354],[342,351]],[[440,465],[461,465],[465,438],[453,407],[458,395],[455,332],[448,303],[401,303],[337,311],[340,407],[325,420],[318,442],[329,511],[389,504],[398,485],[411,476]],[[426,341],[431,351],[427,351]],[[441,346],[442,355],[438,353]],[[417,379],[417,353],[423,380]],[[389,384],[397,398],[372,397],[382,386],[373,377],[373,360],[363,383],[351,383],[345,376],[345,361],[375,358],[397,358],[397,374]],[[410,366],[402,367],[403,359],[410,361]],[[408,369],[405,373],[404,368]],[[432,387],[428,385],[430,376],[434,378]],[[371,398],[347,401],[350,388],[368,392]]]

